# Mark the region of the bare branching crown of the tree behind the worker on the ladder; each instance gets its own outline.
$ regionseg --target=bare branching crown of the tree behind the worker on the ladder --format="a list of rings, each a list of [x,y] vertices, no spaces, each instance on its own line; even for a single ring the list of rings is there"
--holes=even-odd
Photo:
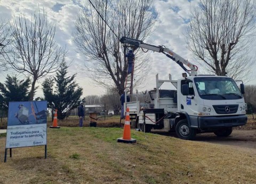
[[[126,47],[122,47],[122,36],[145,39],[152,32],[157,12],[153,0],[103,0],[83,3],[75,21],[73,33],[78,52],[90,62],[85,64],[87,74],[106,89],[124,91],[127,75]],[[103,20],[106,20],[106,22]],[[109,28],[109,27],[110,28]],[[130,48],[133,49],[133,48]],[[135,52],[134,86],[139,86],[148,74],[148,58]]]

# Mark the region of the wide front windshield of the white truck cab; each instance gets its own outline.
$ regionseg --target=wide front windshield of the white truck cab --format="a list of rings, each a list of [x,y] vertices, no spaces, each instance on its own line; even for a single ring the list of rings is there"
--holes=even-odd
[[[196,77],[195,85],[199,96],[207,100],[241,99],[242,93],[235,81],[228,77]]]

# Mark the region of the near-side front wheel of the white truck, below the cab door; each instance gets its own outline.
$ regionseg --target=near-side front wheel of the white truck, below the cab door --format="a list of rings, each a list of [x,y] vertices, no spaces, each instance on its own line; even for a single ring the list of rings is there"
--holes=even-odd
[[[187,119],[179,121],[175,131],[180,139],[191,140],[196,137],[196,130],[189,127]]]

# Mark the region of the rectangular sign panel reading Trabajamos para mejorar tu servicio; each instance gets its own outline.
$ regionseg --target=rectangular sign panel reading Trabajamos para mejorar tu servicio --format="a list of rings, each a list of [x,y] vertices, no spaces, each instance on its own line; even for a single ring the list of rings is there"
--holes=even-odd
[[[10,102],[5,148],[46,145],[47,101]]]

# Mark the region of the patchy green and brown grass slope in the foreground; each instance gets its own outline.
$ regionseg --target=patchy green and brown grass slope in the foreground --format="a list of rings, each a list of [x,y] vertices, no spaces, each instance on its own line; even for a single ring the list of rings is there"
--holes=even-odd
[[[256,183],[255,153],[131,130],[137,143],[118,143],[116,127],[47,129],[44,147],[12,149],[0,183]]]

